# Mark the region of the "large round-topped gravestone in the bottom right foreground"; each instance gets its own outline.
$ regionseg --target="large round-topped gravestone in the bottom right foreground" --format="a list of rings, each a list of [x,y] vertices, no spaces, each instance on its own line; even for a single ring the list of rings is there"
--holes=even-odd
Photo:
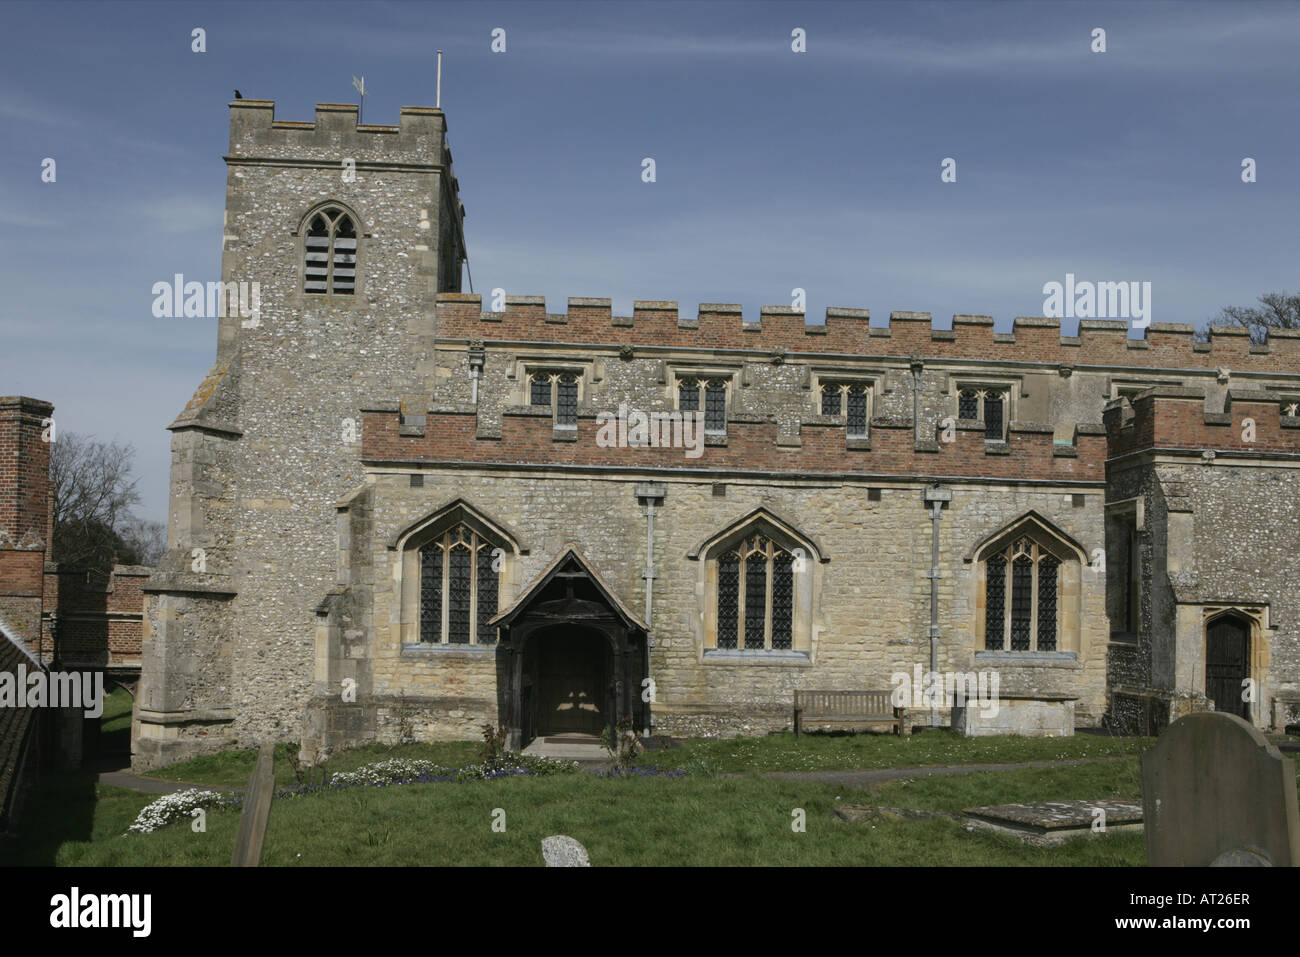
[[[1147,863],[1300,865],[1296,768],[1236,715],[1179,718],[1141,755]]]

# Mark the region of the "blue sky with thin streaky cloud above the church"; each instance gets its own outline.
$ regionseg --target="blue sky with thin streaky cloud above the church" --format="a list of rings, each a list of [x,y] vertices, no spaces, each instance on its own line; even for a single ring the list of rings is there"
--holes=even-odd
[[[0,13],[0,394],[134,443],[150,519],[166,516],[165,426],[216,348],[214,320],[155,319],[151,287],[218,278],[237,87],[312,120],[317,101],[355,101],[364,74],[367,121],[395,124],[402,105],[433,105],[443,49],[474,290],[545,295],[552,312],[611,296],[616,312],[677,299],[757,317],[802,287],[818,321],[850,306],[1001,329],[1074,273],[1149,281],[1154,321],[1201,325],[1300,286],[1292,3]],[[940,182],[944,157],[956,183]]]

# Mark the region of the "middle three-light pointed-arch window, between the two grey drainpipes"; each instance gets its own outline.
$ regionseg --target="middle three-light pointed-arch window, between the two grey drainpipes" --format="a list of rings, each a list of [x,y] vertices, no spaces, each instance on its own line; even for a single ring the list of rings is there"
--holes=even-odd
[[[766,536],[749,536],[718,557],[718,648],[790,649],[794,557]]]

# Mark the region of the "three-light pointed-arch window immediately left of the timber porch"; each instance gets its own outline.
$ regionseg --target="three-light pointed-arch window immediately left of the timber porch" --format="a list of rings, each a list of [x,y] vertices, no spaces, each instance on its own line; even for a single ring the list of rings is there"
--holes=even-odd
[[[490,645],[500,573],[491,544],[465,524],[420,549],[420,641]]]

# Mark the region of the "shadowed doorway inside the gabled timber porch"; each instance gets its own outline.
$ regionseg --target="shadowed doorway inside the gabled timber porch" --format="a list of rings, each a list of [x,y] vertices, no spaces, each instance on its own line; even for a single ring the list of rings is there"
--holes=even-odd
[[[537,735],[599,735],[608,720],[608,638],[580,628],[552,628],[536,635],[529,651]]]

